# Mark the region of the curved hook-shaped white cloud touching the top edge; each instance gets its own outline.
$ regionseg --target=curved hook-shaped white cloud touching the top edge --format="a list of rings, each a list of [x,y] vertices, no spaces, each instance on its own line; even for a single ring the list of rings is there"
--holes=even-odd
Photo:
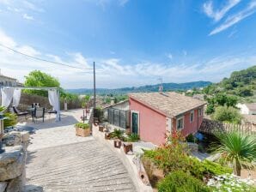
[[[222,9],[214,10],[213,2],[212,1],[208,1],[208,2],[203,4],[203,10],[204,10],[204,13],[207,16],[209,16],[210,18],[212,18],[214,21],[220,21],[222,19],[222,17],[227,12],[229,12],[229,9],[232,9],[233,7],[235,7],[235,5],[237,5],[240,2],[241,2],[241,0],[229,0],[222,7]]]

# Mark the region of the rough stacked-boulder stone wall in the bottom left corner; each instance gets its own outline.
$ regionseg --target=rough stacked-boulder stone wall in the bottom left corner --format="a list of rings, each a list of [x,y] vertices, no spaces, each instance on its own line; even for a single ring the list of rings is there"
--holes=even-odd
[[[0,192],[21,192],[26,183],[29,134],[12,131],[3,136],[5,152],[0,153]]]

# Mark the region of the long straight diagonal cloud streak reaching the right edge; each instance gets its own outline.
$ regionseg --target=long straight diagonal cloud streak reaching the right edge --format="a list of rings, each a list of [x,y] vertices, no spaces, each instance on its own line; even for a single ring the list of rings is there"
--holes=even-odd
[[[229,16],[226,21],[224,21],[220,26],[216,27],[214,30],[210,32],[209,35],[213,35],[216,33],[220,33],[229,27],[235,25],[239,21],[242,21],[243,19],[247,18],[250,15],[253,15],[256,11],[256,1],[251,1],[246,9],[241,10],[239,13],[235,15]]]

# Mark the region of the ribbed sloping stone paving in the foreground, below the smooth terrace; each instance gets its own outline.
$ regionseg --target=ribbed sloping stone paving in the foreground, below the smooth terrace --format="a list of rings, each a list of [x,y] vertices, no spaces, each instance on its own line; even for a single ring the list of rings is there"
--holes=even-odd
[[[135,191],[121,161],[98,141],[28,152],[26,191]]]

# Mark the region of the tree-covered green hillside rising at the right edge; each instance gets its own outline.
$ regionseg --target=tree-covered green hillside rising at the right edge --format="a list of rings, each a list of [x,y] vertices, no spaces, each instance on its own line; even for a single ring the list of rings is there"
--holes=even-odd
[[[233,72],[229,78],[204,88],[206,94],[227,93],[240,102],[256,102],[256,65]]]

